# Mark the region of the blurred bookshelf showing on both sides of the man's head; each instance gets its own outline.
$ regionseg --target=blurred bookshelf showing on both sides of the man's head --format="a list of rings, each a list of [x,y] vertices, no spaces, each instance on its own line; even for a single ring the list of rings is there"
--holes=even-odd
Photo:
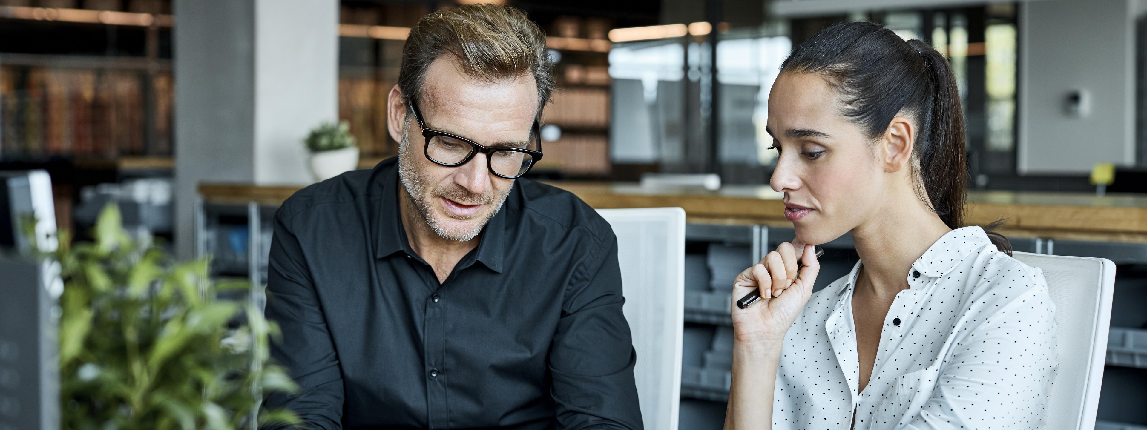
[[[387,93],[398,80],[403,42],[424,5],[344,3],[340,16],[338,116],[351,125],[362,154],[360,167],[398,153],[387,134]],[[560,16],[546,29],[557,60],[557,91],[543,124],[560,128],[545,141],[546,157],[532,173],[556,178],[604,178],[609,162],[609,22]],[[545,134],[545,133],[544,133]]]

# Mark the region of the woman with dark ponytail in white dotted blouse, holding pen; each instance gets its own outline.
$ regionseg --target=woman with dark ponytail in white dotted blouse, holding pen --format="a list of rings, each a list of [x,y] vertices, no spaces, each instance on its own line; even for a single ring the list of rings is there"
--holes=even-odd
[[[1038,429],[1053,306],[1002,236],[960,228],[944,56],[872,23],[826,29],[781,67],[767,130],[796,239],[735,280],[734,302],[763,300],[733,305],[725,429]],[[860,263],[812,294],[811,244],[845,232]]]

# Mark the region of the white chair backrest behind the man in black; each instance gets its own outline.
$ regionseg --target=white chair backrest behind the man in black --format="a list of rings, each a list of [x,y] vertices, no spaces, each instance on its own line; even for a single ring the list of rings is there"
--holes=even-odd
[[[623,312],[646,429],[677,430],[685,322],[685,210],[601,209],[617,235]]]

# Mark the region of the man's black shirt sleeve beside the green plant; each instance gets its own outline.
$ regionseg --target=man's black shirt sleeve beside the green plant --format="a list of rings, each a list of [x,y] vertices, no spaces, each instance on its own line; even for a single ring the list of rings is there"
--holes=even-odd
[[[295,412],[310,429],[342,429],[338,357],[303,250],[282,210],[275,213],[271,241],[266,316],[282,330],[282,338],[271,343],[271,358],[286,366],[299,385],[294,394],[272,393],[266,406]]]

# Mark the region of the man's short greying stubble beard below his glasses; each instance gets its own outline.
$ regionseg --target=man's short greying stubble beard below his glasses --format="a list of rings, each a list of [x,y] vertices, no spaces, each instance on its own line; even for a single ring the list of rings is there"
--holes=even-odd
[[[419,212],[419,218],[421,218],[422,221],[430,227],[430,230],[443,239],[466,242],[477,237],[478,234],[482,233],[482,229],[486,226],[486,222],[490,222],[490,219],[498,214],[498,212],[501,212],[502,205],[506,204],[506,198],[509,197],[510,189],[514,188],[514,182],[510,182],[510,186],[506,188],[506,191],[500,197],[494,195],[497,190],[493,188],[492,183],[490,193],[486,195],[476,195],[457,183],[450,183],[444,187],[428,190],[426,185],[427,181],[422,177],[422,172],[419,172],[418,167],[414,165],[413,155],[409,154],[409,140],[404,133],[403,141],[398,143],[398,179],[403,182],[403,187],[406,188],[406,194],[411,200],[411,203],[414,204],[414,209]],[[443,225],[443,222],[432,216],[430,202],[426,198],[428,191],[431,197],[445,197],[459,203],[486,205],[498,202],[498,208],[487,213],[481,222],[473,224],[471,228],[462,232],[451,232],[445,225]],[[447,214],[447,217],[453,219],[466,219],[455,218],[450,214]]]

